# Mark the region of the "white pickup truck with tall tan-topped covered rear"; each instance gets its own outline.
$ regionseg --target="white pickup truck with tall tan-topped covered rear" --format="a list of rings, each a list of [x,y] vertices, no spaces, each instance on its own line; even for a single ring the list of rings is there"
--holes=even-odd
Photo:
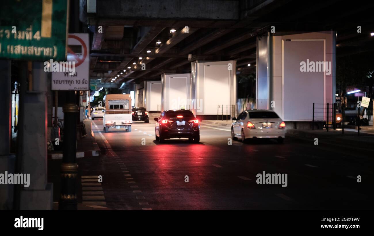
[[[105,115],[103,117],[104,131],[125,128],[131,132],[131,96],[130,94],[107,94],[104,96]]]

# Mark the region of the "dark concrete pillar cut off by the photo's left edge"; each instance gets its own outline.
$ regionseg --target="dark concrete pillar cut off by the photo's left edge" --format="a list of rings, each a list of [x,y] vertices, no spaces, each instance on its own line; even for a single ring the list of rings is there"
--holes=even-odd
[[[10,154],[11,109],[10,99],[10,60],[0,60],[0,101],[4,115],[0,116],[0,173],[14,173],[15,155]],[[13,184],[0,184],[0,210],[13,209]]]

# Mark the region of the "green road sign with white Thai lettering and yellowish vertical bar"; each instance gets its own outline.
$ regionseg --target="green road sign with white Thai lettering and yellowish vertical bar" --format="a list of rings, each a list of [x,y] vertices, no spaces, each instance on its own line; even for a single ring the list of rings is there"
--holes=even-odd
[[[7,0],[0,7],[0,58],[66,60],[68,0]]]

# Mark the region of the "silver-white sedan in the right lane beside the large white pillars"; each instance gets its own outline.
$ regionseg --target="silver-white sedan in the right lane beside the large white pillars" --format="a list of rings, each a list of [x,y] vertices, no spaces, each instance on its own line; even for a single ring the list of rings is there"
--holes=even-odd
[[[272,110],[246,110],[233,118],[231,136],[233,140],[277,139],[283,143],[286,124]]]

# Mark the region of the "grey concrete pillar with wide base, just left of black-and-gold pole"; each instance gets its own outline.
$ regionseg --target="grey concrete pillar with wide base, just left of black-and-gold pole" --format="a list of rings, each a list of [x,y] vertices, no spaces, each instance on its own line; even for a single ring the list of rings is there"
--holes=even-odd
[[[33,90],[23,91],[18,127],[20,173],[30,174],[30,186],[21,186],[19,209],[52,209],[52,183],[47,183],[47,80],[42,62],[33,63]],[[22,111],[21,111],[22,109]],[[36,112],[37,111],[37,112]]]

